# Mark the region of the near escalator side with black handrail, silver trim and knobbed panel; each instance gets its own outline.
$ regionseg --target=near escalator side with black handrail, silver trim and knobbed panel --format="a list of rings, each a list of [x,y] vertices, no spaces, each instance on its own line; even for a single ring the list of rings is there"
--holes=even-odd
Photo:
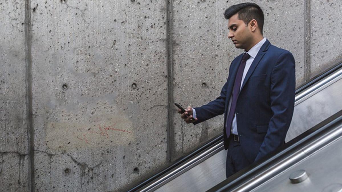
[[[222,181],[216,191],[342,191],[342,110]]]

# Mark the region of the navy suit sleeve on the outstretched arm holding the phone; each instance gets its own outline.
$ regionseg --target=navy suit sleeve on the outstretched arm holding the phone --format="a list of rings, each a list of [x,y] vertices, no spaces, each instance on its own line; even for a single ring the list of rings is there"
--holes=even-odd
[[[193,124],[196,125],[210,118],[213,118],[214,116],[223,114],[225,101],[226,101],[226,93],[227,93],[227,82],[223,85],[221,94],[218,98],[216,98],[213,101],[210,101],[206,105],[195,108],[197,121],[195,121]]]

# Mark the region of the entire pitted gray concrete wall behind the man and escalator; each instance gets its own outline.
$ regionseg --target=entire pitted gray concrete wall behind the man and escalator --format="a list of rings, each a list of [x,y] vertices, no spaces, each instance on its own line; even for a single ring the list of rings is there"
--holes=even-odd
[[[240,2],[1,1],[1,190],[124,191],[221,134],[222,116],[187,125],[173,102],[219,95]],[[297,86],[342,61],[341,1],[254,2]]]

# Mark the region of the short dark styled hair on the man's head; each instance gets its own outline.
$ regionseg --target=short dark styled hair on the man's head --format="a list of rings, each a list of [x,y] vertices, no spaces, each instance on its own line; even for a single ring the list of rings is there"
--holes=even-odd
[[[264,13],[259,5],[255,3],[240,3],[230,6],[224,11],[224,18],[229,19],[236,13],[239,14],[239,19],[243,20],[247,25],[252,19],[257,20],[260,32],[264,27]]]

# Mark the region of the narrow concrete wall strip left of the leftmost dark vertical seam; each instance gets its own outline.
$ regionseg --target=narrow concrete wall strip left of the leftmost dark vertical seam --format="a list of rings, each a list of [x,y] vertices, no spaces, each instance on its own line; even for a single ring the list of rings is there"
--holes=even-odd
[[[25,2],[0,3],[0,191],[28,191]]]

